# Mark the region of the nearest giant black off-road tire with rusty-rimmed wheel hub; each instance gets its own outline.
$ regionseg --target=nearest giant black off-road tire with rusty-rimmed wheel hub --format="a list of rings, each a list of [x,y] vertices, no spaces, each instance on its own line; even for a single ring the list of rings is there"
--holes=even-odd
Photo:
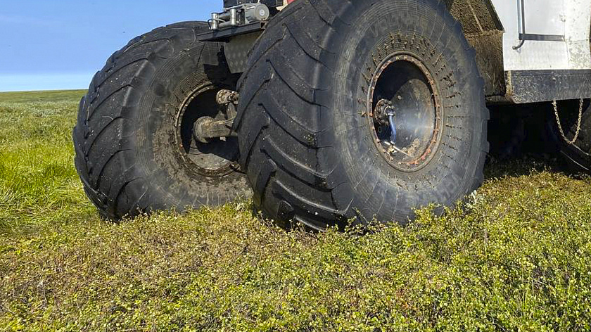
[[[483,80],[444,1],[295,1],[239,89],[240,162],[274,219],[405,224],[483,181]]]

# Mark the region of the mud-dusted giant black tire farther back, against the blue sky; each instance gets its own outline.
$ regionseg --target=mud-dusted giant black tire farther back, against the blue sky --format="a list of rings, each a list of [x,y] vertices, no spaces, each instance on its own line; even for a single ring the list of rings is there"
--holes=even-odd
[[[103,217],[219,205],[248,195],[236,139],[196,143],[193,123],[222,117],[220,89],[236,89],[206,23],[160,27],[109,58],[80,102],[73,139],[84,190]]]

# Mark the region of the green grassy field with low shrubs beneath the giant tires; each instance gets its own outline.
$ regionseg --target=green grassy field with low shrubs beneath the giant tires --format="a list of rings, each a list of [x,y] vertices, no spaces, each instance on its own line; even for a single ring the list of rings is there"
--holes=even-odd
[[[103,222],[83,91],[0,94],[0,331],[590,331],[591,179],[488,165],[464,209],[286,232],[249,202]]]

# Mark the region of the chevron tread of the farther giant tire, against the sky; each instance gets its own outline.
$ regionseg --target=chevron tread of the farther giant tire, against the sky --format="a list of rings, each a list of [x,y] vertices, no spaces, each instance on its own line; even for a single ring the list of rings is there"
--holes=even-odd
[[[134,160],[134,143],[129,139],[134,132],[129,131],[133,126],[128,112],[139,103],[141,88],[147,83],[142,77],[153,72],[161,60],[198,43],[196,34],[206,27],[202,22],[158,27],[129,41],[94,75],[80,101],[72,137],[84,191],[102,217],[119,219],[149,208],[147,188],[139,195],[127,193],[139,180],[129,161]]]

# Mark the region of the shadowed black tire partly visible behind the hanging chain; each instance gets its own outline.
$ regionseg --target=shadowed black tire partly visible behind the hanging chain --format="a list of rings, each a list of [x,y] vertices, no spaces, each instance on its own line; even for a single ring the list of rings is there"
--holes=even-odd
[[[579,107],[579,101],[559,101],[557,120],[554,107],[548,106],[550,132],[570,169],[575,172],[589,173],[591,172],[591,101],[589,99],[583,101],[580,129],[578,129]],[[562,133],[559,130],[558,121],[560,121]],[[577,131],[577,139],[573,141]]]

